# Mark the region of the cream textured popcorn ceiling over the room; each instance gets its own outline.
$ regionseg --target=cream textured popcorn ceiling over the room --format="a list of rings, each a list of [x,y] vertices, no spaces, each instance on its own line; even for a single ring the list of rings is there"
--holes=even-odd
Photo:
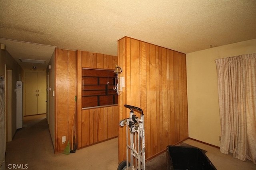
[[[54,47],[117,55],[124,36],[182,53],[256,39],[256,1],[0,1],[0,43],[16,60],[47,65]]]

